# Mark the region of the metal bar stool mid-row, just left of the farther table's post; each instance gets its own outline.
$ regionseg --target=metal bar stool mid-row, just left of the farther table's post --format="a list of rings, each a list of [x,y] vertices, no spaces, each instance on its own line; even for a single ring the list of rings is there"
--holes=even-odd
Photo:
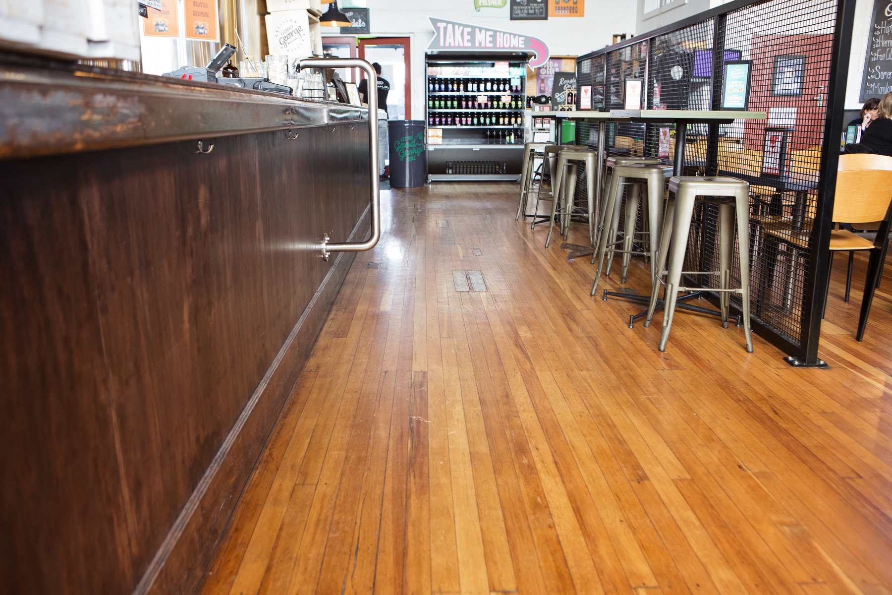
[[[545,239],[545,247],[549,247],[551,230],[554,227],[556,215],[561,216],[561,235],[566,237],[570,233],[570,219],[574,214],[576,193],[576,172],[579,165],[576,162],[585,163],[585,178],[587,188],[586,218],[589,220],[589,241],[595,244],[595,176],[598,167],[598,152],[579,146],[563,148],[558,153],[557,171],[552,182],[555,192],[555,200],[551,202],[551,222],[549,223],[549,236]]]

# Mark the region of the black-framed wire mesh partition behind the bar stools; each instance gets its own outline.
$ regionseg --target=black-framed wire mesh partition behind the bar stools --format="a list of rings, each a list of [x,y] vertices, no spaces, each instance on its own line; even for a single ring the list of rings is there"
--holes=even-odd
[[[648,110],[720,110],[725,62],[750,62],[748,109],[766,120],[690,124],[686,175],[750,184],[750,310],[760,335],[815,365],[829,261],[830,213],[855,0],[739,0],[580,56],[581,85],[605,60],[604,110],[624,108],[624,80],[642,79]],[[578,106],[577,106],[578,107]],[[594,107],[593,109],[598,109]],[[674,157],[672,121],[612,123],[608,153]],[[596,125],[577,125],[594,146]],[[686,270],[718,269],[717,207],[695,211]],[[732,285],[739,284],[734,248]],[[719,278],[687,285],[718,288]],[[715,294],[710,294],[711,299]],[[740,308],[739,295],[731,298]]]

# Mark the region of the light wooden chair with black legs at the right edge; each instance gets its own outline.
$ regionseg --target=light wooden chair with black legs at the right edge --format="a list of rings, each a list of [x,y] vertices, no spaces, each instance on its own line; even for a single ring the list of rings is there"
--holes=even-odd
[[[833,201],[833,220],[853,223],[857,227],[859,223],[882,219],[873,242],[856,236],[846,229],[834,229],[830,232],[830,267],[833,265],[833,252],[871,251],[867,265],[867,279],[864,283],[864,297],[861,302],[861,317],[858,319],[858,332],[855,335],[858,341],[864,338],[864,328],[871,312],[871,302],[882,270],[882,260],[886,258],[890,209],[892,209],[892,157],[868,153],[840,155],[836,198]],[[829,293],[830,271],[827,275],[827,285]]]

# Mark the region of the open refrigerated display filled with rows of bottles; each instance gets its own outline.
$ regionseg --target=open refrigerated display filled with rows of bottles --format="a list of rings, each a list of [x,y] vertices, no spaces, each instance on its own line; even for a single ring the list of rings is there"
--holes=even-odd
[[[426,54],[428,181],[520,179],[526,61],[526,54]]]

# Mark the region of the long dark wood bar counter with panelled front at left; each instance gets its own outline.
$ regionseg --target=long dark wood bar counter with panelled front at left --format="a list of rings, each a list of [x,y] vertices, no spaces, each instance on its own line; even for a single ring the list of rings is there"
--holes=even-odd
[[[0,591],[194,591],[353,260],[318,243],[368,236],[364,117],[0,63]]]

